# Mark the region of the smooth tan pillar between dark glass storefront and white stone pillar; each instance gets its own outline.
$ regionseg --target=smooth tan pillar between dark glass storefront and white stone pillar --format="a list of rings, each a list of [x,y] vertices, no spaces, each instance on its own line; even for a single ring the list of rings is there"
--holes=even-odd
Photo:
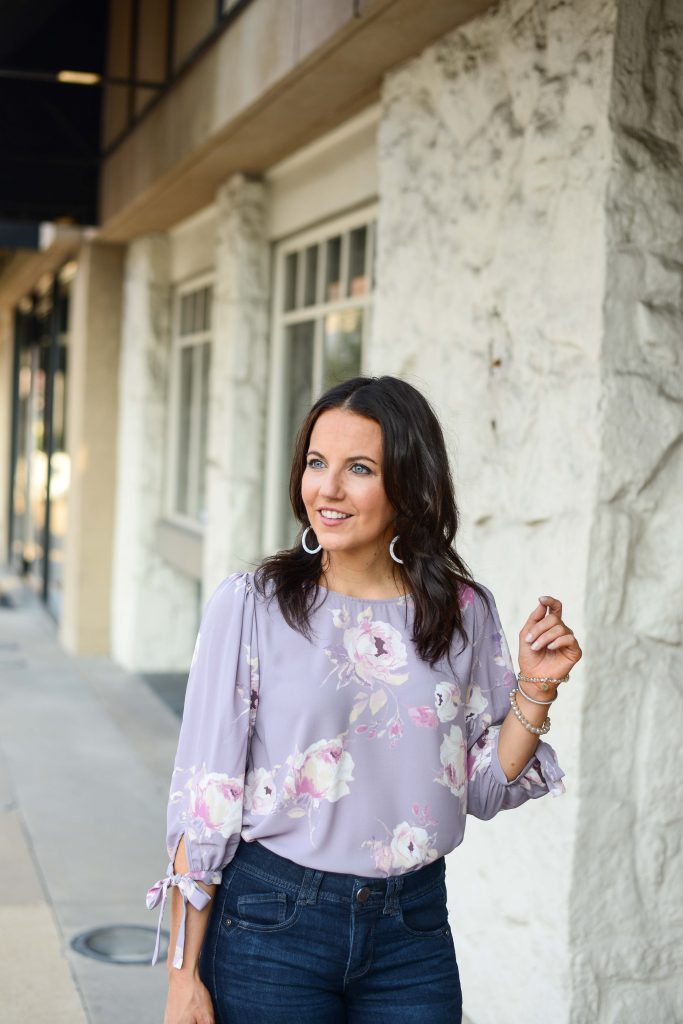
[[[78,654],[111,648],[122,246],[86,243],[69,332],[67,443],[71,465],[59,639]]]

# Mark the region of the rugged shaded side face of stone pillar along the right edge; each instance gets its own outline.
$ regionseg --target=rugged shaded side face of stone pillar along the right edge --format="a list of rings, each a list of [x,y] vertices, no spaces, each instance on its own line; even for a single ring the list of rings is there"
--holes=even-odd
[[[683,1020],[683,7],[623,0],[570,901],[572,1024]]]

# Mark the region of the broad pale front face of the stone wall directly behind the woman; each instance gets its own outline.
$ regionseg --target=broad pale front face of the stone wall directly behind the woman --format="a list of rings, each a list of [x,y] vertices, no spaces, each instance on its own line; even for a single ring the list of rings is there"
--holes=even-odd
[[[493,589],[515,660],[541,594],[560,597],[588,634],[614,18],[600,0],[504,2],[383,90],[370,369],[433,400],[453,452],[460,550]],[[604,555],[593,571],[609,571]],[[548,737],[566,795],[469,819],[447,859],[475,1024],[569,1020],[587,660]]]

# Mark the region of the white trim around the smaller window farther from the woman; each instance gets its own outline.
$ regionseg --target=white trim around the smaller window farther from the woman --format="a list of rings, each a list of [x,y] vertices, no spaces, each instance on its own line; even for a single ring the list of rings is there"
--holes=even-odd
[[[204,344],[206,341],[213,343],[213,338],[215,336],[214,331],[214,313],[213,313],[213,301],[212,301],[212,318],[211,318],[211,329],[207,332],[205,336],[194,335],[191,338],[183,338],[180,334],[180,308],[183,296],[190,292],[197,292],[202,288],[211,287],[215,291],[215,273],[213,271],[197,274],[191,278],[185,279],[182,283],[177,283],[173,290],[172,299],[172,340],[171,340],[171,372],[170,372],[170,382],[169,382],[169,402],[168,402],[168,430],[167,430],[167,449],[166,449],[166,487],[164,496],[164,517],[169,522],[175,523],[177,526],[181,526],[183,529],[189,529],[200,537],[204,536],[205,525],[199,522],[197,519],[193,519],[191,516],[182,515],[182,513],[176,511],[175,509],[175,496],[177,490],[178,482],[178,403],[180,401],[180,352],[183,348],[195,347],[199,344]],[[195,374],[193,380],[193,389],[195,390],[195,397],[199,397],[198,389],[201,387],[201,379],[199,374]],[[199,415],[199,401],[194,402],[195,416]],[[193,431],[193,436],[195,438],[195,444],[199,442],[199,425],[195,424],[195,430]],[[195,453],[197,455],[198,453]],[[197,486],[197,473],[199,471],[199,459],[193,459],[190,457],[189,465],[190,472],[194,479],[189,480],[189,486]]]

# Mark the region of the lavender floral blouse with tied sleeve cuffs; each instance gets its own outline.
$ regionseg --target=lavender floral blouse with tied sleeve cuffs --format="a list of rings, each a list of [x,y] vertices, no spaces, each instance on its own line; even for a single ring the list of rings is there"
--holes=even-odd
[[[485,589],[485,588],[484,588]],[[312,640],[291,629],[251,572],[211,596],[193,656],[168,803],[168,873],[147,893],[187,902],[219,884],[242,837],[307,867],[384,878],[418,870],[490,818],[546,793],[563,772],[541,740],[508,780],[498,759],[515,673],[498,609],[462,590],[468,643],[431,668],[412,642],[409,597],[322,590]],[[460,651],[460,652],[459,652]],[[459,652],[459,653],[458,653]],[[256,714],[258,709],[258,715]],[[185,838],[186,874],[173,872]],[[153,963],[159,952],[159,932]]]

